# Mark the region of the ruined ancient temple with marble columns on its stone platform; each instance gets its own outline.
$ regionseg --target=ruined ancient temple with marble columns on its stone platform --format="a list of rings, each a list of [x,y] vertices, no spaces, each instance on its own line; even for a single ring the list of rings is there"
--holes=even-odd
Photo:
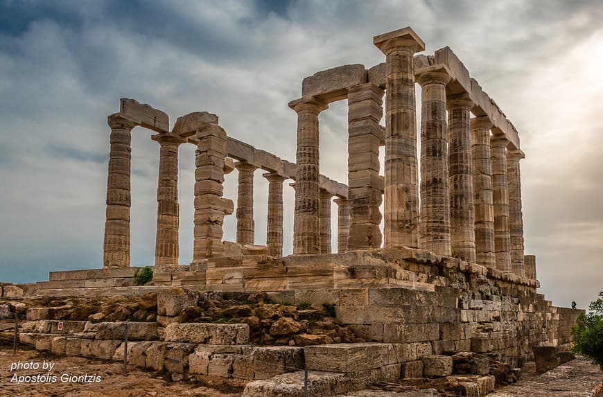
[[[295,163],[229,136],[215,114],[187,114],[169,130],[164,112],[122,99],[120,111],[108,118],[103,269],[51,272],[50,281],[37,283],[36,293],[93,296],[184,286],[266,292],[294,305],[328,303],[338,321],[363,340],[380,343],[378,349],[381,344],[414,349],[398,358],[398,374],[401,365],[432,353],[496,353],[520,365],[533,357],[531,346],[569,342],[569,324],[578,312],[556,308],[536,293],[536,258],[524,252],[524,154],[516,128],[451,48],[417,55],[425,44],[411,28],[373,40],[385,62],[335,67],[302,82],[302,97],[289,103],[297,113]],[[322,175],[319,167],[319,114],[337,100],[348,103],[347,184]],[[152,139],[159,143],[155,272],[152,285],[144,286],[133,285],[137,268],[130,267],[135,126],[155,132]],[[196,146],[194,248],[192,263],[182,264],[178,149],[187,143]],[[225,174],[235,168],[236,211],[222,187]],[[254,245],[256,170],[269,182],[266,246]],[[288,179],[295,182],[294,241],[293,254],[283,257]],[[224,218],[235,213],[236,243],[224,242]],[[336,351],[322,351],[310,369],[321,369]]]

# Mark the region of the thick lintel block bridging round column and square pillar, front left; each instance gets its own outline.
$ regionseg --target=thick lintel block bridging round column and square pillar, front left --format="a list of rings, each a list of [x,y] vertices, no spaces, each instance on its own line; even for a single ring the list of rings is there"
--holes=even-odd
[[[302,97],[317,97],[326,103],[345,98],[350,87],[367,82],[367,71],[362,64],[350,64],[319,71],[304,78]]]

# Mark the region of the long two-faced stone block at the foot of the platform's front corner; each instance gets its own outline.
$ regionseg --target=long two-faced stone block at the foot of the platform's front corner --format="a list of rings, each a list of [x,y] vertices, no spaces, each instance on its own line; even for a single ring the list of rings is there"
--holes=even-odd
[[[316,371],[356,372],[396,364],[392,344],[323,344],[304,347],[306,367]]]

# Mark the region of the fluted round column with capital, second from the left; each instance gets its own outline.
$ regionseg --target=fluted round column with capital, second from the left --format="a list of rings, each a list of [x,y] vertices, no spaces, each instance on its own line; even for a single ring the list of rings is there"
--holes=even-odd
[[[178,146],[184,142],[175,134],[157,134],[159,147],[157,182],[157,237],[155,265],[178,264]]]

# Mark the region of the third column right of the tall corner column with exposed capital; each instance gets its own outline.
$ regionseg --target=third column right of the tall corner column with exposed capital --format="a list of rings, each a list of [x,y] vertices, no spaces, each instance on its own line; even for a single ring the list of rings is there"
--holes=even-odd
[[[492,125],[488,116],[471,119],[475,258],[480,265],[495,269],[492,163],[490,159],[490,129]]]

